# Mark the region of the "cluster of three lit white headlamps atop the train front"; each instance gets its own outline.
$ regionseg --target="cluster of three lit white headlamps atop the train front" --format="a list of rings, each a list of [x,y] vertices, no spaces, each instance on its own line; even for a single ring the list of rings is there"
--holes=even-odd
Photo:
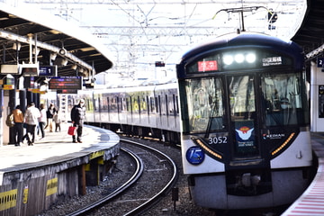
[[[222,56],[222,61],[225,65],[230,66],[234,62],[237,64],[256,62],[257,55],[254,52],[247,53],[226,53]]]

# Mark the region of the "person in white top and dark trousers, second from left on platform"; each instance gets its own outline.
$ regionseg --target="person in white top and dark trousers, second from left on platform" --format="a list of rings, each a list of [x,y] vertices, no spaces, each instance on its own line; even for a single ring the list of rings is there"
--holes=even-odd
[[[33,146],[35,141],[35,128],[39,124],[40,110],[31,102],[25,112],[25,122],[27,124],[27,141],[29,146]]]

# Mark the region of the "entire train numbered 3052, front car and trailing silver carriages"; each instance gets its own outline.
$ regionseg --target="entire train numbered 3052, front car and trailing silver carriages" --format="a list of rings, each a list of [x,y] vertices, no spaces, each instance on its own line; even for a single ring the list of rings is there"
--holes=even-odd
[[[242,32],[184,53],[177,82],[61,95],[85,99],[86,122],[181,143],[193,202],[251,209],[293,202],[311,182],[304,53],[293,41]]]

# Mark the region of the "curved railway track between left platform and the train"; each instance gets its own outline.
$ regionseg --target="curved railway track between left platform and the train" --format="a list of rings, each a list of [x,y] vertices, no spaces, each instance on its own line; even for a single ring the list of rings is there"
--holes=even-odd
[[[103,198],[77,211],[76,215],[138,215],[171,190],[177,177],[175,162],[166,154],[136,141],[121,139],[121,150],[136,165],[130,179]],[[111,213],[110,213],[111,212]]]

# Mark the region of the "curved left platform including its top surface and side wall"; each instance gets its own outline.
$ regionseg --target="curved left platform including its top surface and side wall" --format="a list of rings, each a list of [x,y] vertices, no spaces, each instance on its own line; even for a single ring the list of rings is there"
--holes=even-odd
[[[46,130],[33,146],[0,147],[0,215],[37,215],[59,196],[85,193],[117,161],[120,139],[111,130],[85,126],[82,143],[60,132]]]

